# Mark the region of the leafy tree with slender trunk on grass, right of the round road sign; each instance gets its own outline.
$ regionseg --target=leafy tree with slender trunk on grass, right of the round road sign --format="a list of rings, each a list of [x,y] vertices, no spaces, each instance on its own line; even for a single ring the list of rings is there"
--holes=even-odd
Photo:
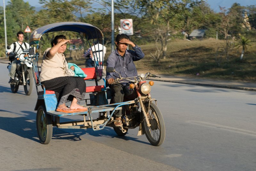
[[[151,24],[155,25],[152,29],[154,40],[160,41],[161,48],[158,52],[161,55],[156,62],[159,62],[160,58],[166,57],[167,41],[170,39],[171,24],[175,23],[175,17],[177,15],[184,15],[184,11],[190,11],[196,4],[201,2],[197,0],[140,0],[140,4],[146,8],[146,15],[151,19]],[[186,17],[185,17],[186,18]],[[176,22],[177,23],[177,22]]]

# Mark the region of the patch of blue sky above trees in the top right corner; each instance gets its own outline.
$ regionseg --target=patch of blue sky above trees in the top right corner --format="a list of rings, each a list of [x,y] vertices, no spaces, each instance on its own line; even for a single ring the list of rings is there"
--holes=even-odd
[[[256,5],[255,0],[206,0],[206,2],[210,5],[211,9],[215,12],[219,12],[221,7],[226,7],[226,9],[230,8],[234,3],[238,3],[241,6],[249,6]]]

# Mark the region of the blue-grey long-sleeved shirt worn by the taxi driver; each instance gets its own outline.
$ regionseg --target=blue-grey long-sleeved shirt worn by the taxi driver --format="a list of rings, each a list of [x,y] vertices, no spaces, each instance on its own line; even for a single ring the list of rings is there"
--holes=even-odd
[[[107,60],[107,67],[115,68],[116,72],[120,73],[122,77],[135,77],[138,76],[138,72],[136,70],[135,64],[133,61],[138,61],[142,59],[145,55],[142,52],[141,48],[135,46],[132,48],[133,50],[125,50],[124,58],[118,53],[117,49],[113,51]],[[109,78],[119,78],[119,74],[116,72],[107,72],[106,79]],[[122,84],[126,84],[123,82]]]

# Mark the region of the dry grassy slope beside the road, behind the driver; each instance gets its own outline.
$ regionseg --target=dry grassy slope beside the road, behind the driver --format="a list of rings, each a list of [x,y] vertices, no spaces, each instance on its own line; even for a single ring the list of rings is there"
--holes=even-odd
[[[242,48],[234,48],[229,50],[229,59],[226,56],[221,57],[220,66],[215,58],[217,49],[225,46],[225,41],[222,40],[170,41],[166,59],[161,59],[159,63],[150,57],[150,52],[154,53],[156,50],[153,43],[139,45],[145,57],[135,64],[140,73],[149,71],[160,75],[256,82],[256,42],[251,44],[245,51],[243,60],[240,60]],[[107,48],[106,59],[110,51]],[[83,65],[84,59],[76,63]]]

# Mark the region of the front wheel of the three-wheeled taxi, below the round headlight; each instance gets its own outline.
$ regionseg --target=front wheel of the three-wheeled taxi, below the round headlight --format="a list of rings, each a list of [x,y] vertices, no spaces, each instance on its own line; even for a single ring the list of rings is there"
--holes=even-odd
[[[148,141],[155,146],[159,146],[164,142],[165,139],[165,127],[164,119],[159,108],[154,104],[148,102],[145,103],[146,112],[148,112],[148,120],[151,124],[147,126],[146,120],[144,119],[142,125]]]

